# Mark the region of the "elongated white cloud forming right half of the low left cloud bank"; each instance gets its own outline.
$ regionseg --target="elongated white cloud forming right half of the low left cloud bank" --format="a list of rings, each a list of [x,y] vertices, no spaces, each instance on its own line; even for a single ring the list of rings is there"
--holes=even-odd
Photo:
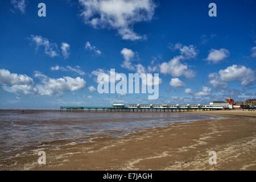
[[[35,72],[35,77],[40,78],[41,84],[36,85],[38,93],[42,96],[60,96],[65,91],[76,91],[85,87],[86,81],[80,77],[49,78],[40,72]]]

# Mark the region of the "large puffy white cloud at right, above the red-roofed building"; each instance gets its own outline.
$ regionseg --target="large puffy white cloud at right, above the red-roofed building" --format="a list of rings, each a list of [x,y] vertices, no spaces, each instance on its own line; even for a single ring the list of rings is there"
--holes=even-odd
[[[240,81],[243,86],[250,85],[255,81],[255,72],[242,65],[232,65],[226,69],[221,69],[218,73],[210,73],[210,84],[215,88],[226,87],[228,81]]]

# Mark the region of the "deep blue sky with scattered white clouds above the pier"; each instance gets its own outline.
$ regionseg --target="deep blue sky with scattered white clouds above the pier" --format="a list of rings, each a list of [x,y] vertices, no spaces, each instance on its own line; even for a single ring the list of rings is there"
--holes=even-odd
[[[46,17],[38,16],[40,2]],[[217,17],[208,16],[210,2]],[[0,107],[253,98],[255,7],[249,0],[0,0]],[[159,73],[158,100],[99,94],[97,73],[111,68]]]

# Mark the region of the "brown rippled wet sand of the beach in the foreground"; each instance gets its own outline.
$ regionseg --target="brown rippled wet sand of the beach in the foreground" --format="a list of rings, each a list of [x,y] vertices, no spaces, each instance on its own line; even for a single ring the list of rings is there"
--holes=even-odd
[[[190,112],[192,113],[192,112]],[[202,111],[226,118],[174,123],[126,137],[96,137],[59,147],[39,146],[18,154],[2,170],[255,170],[256,111]],[[38,151],[46,165],[38,164]],[[209,164],[209,151],[217,164]]]

